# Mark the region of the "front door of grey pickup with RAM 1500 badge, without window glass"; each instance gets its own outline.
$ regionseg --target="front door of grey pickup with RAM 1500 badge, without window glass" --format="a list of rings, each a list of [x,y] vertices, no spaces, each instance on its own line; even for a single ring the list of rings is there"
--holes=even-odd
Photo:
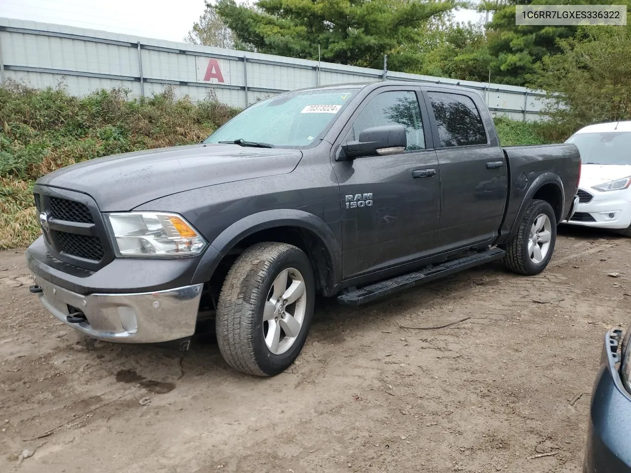
[[[389,156],[336,160],[339,146],[371,100],[380,93],[401,91],[416,96],[424,125],[424,143],[428,148]],[[361,99],[362,103],[341,129],[331,153],[339,183],[342,276],[345,279],[426,257],[435,248],[440,218],[439,163],[432,148],[427,108],[420,88],[413,84],[388,85]],[[413,172],[423,170],[432,170],[433,174],[427,178],[414,177]],[[362,205],[364,194],[372,197],[371,205],[358,207]],[[346,196],[351,199],[348,206]],[[357,196],[362,197],[359,202]]]

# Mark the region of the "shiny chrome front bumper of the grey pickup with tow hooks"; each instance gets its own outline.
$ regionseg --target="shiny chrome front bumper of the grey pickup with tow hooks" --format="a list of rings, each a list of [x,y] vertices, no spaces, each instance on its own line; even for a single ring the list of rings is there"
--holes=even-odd
[[[192,336],[203,284],[153,293],[83,296],[34,277],[42,305],[64,324],[110,342],[158,343]],[[35,292],[37,292],[35,291]],[[80,311],[85,322],[68,322]],[[72,311],[72,312],[71,312]]]

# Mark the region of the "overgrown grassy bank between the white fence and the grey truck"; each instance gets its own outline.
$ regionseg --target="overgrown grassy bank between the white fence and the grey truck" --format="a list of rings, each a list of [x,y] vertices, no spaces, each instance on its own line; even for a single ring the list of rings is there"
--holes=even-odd
[[[126,90],[85,97],[63,88],[0,87],[0,248],[29,245],[40,235],[33,182],[49,172],[99,156],[199,143],[239,112],[213,96],[192,102],[173,90],[143,100]],[[546,127],[496,119],[500,143],[546,143]]]

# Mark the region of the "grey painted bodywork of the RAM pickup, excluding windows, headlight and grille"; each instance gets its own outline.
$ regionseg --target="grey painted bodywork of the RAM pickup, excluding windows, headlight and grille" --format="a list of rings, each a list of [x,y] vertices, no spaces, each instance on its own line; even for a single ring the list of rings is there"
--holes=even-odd
[[[49,243],[40,238],[27,250],[28,266],[77,295],[150,293],[208,284],[250,237],[277,229],[276,235],[292,231],[305,238],[305,251],[322,261],[316,268],[319,289],[330,296],[505,243],[542,186],[557,186],[559,212],[570,212],[579,166],[574,145],[504,152],[476,91],[434,86],[471,98],[488,136],[486,145],[435,149],[425,98],[432,87],[353,86],[360,90],[319,143],[300,149],[193,145],[87,161],[41,178],[35,190],[46,204],[44,213],[50,196],[84,202],[96,222],[89,231],[102,240],[105,255],[91,262],[66,254],[51,234]],[[337,160],[365,103],[393,90],[413,91],[418,98],[426,149]],[[488,168],[489,161],[502,165]],[[435,172],[427,178],[413,174],[427,170]],[[347,209],[346,196],[353,196],[349,204],[364,205]],[[103,213],[128,210],[180,214],[208,244],[195,256],[115,257]],[[57,220],[50,223],[64,231],[88,228]]]

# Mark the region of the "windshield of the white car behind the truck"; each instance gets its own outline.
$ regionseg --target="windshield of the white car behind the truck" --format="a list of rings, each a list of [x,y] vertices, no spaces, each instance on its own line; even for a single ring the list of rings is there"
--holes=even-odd
[[[577,133],[567,140],[581,153],[583,164],[631,164],[631,132]]]

